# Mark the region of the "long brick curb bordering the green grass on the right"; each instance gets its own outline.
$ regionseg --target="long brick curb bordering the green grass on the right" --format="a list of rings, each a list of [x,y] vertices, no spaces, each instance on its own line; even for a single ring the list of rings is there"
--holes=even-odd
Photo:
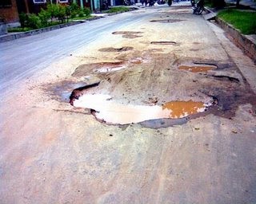
[[[256,40],[254,40],[253,37],[248,37],[240,33],[238,29],[224,22],[221,18],[216,17],[215,20],[218,22],[218,25],[226,31],[230,40],[256,63]]]

